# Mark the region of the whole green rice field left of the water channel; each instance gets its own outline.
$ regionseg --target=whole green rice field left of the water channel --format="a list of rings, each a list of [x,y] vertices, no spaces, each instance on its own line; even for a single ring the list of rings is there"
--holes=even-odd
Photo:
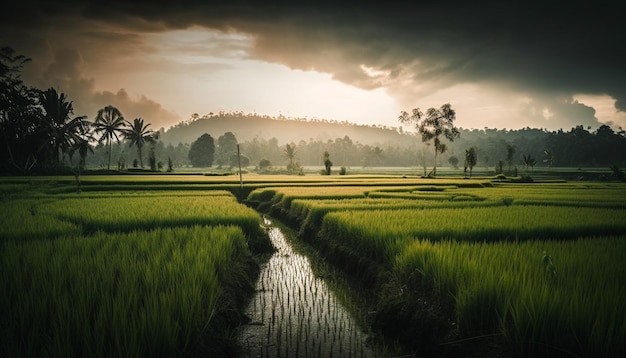
[[[0,356],[236,352],[252,252],[271,244],[230,192],[35,192],[0,208]]]

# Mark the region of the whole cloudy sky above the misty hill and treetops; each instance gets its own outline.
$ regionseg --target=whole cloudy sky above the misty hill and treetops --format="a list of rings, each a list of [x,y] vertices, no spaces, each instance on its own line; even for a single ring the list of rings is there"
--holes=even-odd
[[[626,128],[616,2],[262,4],[20,0],[0,46],[76,115],[112,104],[155,129],[218,111],[398,127],[445,103],[463,128]]]

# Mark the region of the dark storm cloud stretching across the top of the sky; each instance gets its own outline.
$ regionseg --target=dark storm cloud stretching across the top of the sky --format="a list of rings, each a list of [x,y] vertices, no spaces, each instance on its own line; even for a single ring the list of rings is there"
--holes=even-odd
[[[392,93],[419,98],[456,84],[485,83],[538,93],[553,106],[577,93],[609,95],[618,109],[626,110],[626,27],[614,2],[16,4],[0,15],[0,30],[6,34],[0,40],[30,41],[36,47],[43,41],[34,35],[38,31],[70,27],[98,38],[100,48],[80,44],[89,61],[103,60],[112,49],[121,56],[137,51],[136,31],[201,25],[249,34],[254,58],[330,73],[365,89],[386,86]],[[116,31],[107,31],[107,24]],[[127,45],[119,48],[120,43]],[[363,65],[383,75],[368,75]],[[585,121],[593,118],[585,108],[572,109],[580,110]]]

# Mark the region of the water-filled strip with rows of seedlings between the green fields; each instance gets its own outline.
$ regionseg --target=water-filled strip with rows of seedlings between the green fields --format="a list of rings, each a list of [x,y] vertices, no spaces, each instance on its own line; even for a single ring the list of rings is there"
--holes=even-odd
[[[276,252],[261,266],[241,327],[242,357],[376,357],[357,320],[316,277],[309,258],[264,218]]]

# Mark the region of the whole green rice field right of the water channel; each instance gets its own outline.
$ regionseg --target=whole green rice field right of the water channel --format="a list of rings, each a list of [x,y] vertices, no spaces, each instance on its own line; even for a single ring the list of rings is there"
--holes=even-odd
[[[306,226],[313,245],[344,252],[325,252],[339,266],[366,259],[404,292],[379,282],[376,294],[453,307],[459,341],[521,356],[624,354],[624,184],[318,190],[277,190],[273,212]]]

